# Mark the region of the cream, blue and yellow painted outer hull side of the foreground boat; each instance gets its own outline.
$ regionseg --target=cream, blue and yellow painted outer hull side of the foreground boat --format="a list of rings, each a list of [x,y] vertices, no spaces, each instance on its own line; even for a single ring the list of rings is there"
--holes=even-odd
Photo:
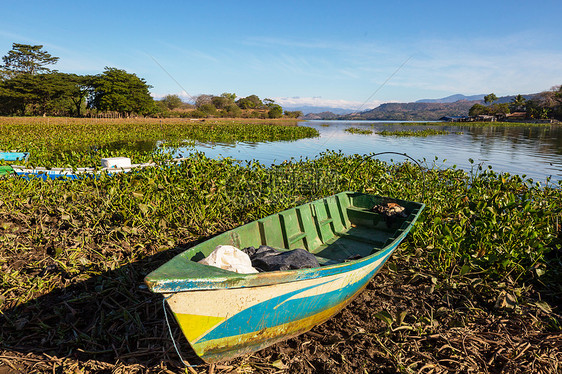
[[[325,322],[365,288],[397,246],[329,276],[320,269],[318,278],[303,281],[165,297],[195,353],[209,363],[223,361]]]

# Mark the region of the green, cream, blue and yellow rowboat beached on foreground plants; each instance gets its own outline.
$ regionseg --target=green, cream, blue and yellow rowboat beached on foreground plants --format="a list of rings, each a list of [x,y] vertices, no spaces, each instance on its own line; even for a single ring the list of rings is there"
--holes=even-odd
[[[163,294],[204,361],[231,359],[302,334],[339,312],[384,265],[423,208],[412,201],[338,193],[198,244],[145,282]],[[320,266],[239,274],[197,262],[219,245],[302,248]]]

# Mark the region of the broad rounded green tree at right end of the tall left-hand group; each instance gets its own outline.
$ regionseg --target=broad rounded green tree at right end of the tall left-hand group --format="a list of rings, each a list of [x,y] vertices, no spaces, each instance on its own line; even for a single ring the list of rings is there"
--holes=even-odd
[[[106,67],[92,82],[88,106],[101,111],[119,112],[123,116],[148,114],[154,108],[154,100],[148,92],[150,87],[135,74]]]

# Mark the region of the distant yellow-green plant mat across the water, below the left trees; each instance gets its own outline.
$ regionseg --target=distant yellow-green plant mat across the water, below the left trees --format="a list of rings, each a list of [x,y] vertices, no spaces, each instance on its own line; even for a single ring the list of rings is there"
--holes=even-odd
[[[133,163],[163,160],[196,142],[293,141],[318,136],[317,130],[297,126],[294,120],[148,118],[0,118],[0,133],[0,149],[25,150],[30,152],[30,165],[46,167],[97,166],[105,157],[130,157]]]

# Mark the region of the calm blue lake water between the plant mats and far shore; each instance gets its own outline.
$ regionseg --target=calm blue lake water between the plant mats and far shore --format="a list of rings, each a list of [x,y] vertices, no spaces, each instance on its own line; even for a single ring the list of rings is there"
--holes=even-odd
[[[270,165],[291,158],[314,158],[326,150],[341,151],[347,155],[391,151],[406,153],[416,160],[425,159],[428,166],[434,163],[439,167],[456,165],[468,171],[474,166],[469,159],[473,159],[475,165],[490,165],[497,172],[527,175],[537,181],[544,181],[549,176],[553,181],[562,180],[562,126],[471,127],[442,122],[415,126],[382,121],[306,121],[300,125],[317,129],[320,136],[293,142],[200,143],[194,148],[181,150],[181,153],[186,155],[195,149],[212,158],[258,160]],[[349,127],[373,130],[373,134],[352,134],[345,131]],[[450,134],[427,137],[377,134],[383,130],[426,128],[445,130]],[[379,158],[405,161],[396,155]]]

